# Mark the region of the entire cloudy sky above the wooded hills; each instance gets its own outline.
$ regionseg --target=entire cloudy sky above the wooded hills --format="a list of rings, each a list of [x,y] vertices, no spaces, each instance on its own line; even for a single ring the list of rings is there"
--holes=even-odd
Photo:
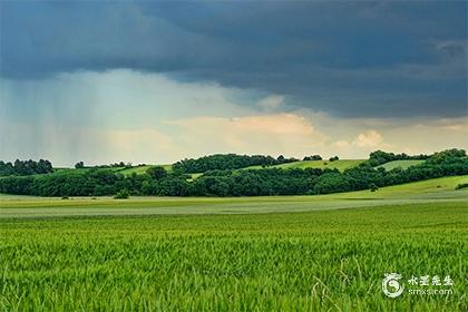
[[[466,1],[0,1],[0,159],[468,148]]]

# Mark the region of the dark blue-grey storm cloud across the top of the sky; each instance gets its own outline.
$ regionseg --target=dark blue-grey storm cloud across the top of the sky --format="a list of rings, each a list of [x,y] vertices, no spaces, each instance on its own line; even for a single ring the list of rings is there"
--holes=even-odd
[[[466,2],[1,2],[1,75],[131,68],[338,116],[459,116]]]

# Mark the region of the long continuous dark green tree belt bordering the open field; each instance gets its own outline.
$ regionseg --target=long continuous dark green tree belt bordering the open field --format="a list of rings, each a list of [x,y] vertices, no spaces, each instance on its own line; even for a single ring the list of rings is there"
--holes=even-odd
[[[386,170],[371,162],[354,168],[263,168],[214,169],[192,179],[191,175],[163,167],[146,174],[124,176],[109,169],[90,168],[74,174],[9,176],[0,178],[0,193],[39,196],[103,196],[120,191],[131,195],[158,196],[260,196],[314,195],[382,186],[429,178],[468,174],[468,157],[462,149],[449,149],[428,156],[420,165]]]

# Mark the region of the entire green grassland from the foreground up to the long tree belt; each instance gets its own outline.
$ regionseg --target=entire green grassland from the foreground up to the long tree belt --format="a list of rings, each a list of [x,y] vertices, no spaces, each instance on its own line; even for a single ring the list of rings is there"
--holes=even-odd
[[[0,311],[466,311],[468,191],[454,191],[466,182],[250,198],[2,195]],[[392,272],[450,275],[452,293],[387,298]]]

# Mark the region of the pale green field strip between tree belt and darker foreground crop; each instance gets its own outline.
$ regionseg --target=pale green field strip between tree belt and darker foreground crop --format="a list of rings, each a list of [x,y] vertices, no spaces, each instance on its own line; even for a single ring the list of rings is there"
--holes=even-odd
[[[74,197],[70,199],[0,196],[0,218],[72,216],[72,215],[143,215],[143,214],[245,214],[272,212],[306,212],[357,208],[394,204],[464,202],[468,189],[455,191],[468,176],[445,177],[404,185],[383,187],[377,192],[314,196],[266,197]]]

